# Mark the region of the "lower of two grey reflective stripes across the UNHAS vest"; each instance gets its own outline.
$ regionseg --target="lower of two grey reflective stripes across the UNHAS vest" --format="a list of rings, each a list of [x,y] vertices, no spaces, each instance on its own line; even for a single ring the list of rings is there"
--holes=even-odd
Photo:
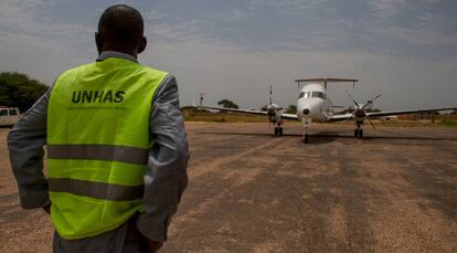
[[[119,186],[104,182],[92,182],[71,178],[49,178],[50,191],[67,192],[96,199],[128,201],[142,198],[145,186]]]

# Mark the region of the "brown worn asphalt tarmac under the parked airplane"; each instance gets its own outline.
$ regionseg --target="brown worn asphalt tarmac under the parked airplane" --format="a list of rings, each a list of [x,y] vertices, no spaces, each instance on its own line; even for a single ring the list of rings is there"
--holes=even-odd
[[[457,252],[457,128],[187,123],[190,185],[161,252]],[[0,252],[50,252],[0,129]]]

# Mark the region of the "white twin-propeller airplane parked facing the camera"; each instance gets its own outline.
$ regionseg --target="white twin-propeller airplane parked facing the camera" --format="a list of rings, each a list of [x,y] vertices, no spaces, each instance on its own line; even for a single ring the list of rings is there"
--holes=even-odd
[[[329,122],[346,122],[353,120],[357,128],[354,129],[354,137],[362,138],[363,129],[362,125],[365,120],[374,127],[370,118],[379,118],[391,115],[400,114],[415,114],[415,113],[429,113],[429,112],[439,112],[439,110],[451,110],[456,108],[433,108],[433,109],[411,109],[411,110],[391,110],[391,112],[370,112],[372,109],[373,102],[378,99],[381,95],[376,95],[372,99],[369,99],[366,104],[360,104],[355,99],[352,101],[355,104],[353,113],[336,115],[333,112],[334,107],[330,98],[327,96],[327,84],[328,83],[342,83],[350,82],[355,85],[358,80],[348,80],[348,78],[309,78],[309,80],[296,80],[297,85],[306,83],[301,88],[298,101],[297,101],[297,114],[286,114],[284,113],[283,107],[272,103],[272,96],[269,106],[266,112],[263,110],[252,110],[252,109],[232,109],[232,108],[222,108],[222,107],[210,107],[202,106],[208,109],[219,109],[219,110],[228,110],[237,112],[244,114],[257,114],[266,115],[269,118],[269,122],[275,124],[275,135],[283,135],[283,119],[295,119],[300,120],[304,126],[304,143],[308,143],[309,139],[309,127],[311,122],[316,123],[329,123]],[[270,89],[272,95],[272,89]],[[349,95],[349,94],[348,94]],[[350,95],[349,95],[350,96]]]

